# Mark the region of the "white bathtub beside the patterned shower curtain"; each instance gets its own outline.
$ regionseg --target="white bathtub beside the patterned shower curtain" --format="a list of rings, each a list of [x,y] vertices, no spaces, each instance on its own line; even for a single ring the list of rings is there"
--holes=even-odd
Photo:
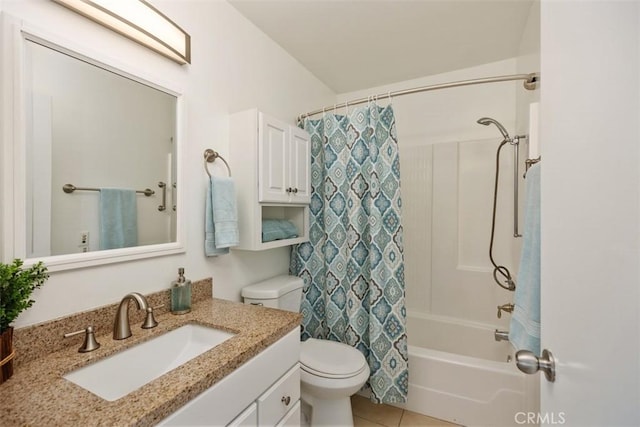
[[[494,330],[409,312],[409,397],[398,406],[465,426],[518,425],[517,413],[537,412],[539,376],[517,369]]]

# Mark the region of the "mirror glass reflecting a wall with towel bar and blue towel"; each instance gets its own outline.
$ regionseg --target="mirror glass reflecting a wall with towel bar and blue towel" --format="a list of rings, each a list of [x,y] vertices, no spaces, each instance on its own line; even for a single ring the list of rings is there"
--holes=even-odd
[[[25,60],[26,257],[176,242],[176,96],[31,40]]]

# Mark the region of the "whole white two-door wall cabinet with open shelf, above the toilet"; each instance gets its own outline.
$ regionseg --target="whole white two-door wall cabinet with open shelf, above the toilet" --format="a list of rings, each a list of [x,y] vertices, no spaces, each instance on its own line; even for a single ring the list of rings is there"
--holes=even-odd
[[[309,134],[251,109],[230,116],[229,139],[240,228],[240,243],[234,249],[263,250],[308,241]],[[298,237],[263,242],[265,219],[291,221]]]

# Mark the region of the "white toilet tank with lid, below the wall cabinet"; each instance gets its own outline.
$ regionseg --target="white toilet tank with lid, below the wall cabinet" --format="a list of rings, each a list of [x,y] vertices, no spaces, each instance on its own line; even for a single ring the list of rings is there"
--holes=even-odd
[[[242,298],[245,304],[299,312],[303,284],[300,277],[284,274],[242,288]]]

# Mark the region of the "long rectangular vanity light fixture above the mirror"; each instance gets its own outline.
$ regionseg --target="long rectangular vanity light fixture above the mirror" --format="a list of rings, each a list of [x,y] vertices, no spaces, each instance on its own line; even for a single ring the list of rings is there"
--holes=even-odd
[[[179,64],[191,63],[191,36],[145,0],[53,0]]]

